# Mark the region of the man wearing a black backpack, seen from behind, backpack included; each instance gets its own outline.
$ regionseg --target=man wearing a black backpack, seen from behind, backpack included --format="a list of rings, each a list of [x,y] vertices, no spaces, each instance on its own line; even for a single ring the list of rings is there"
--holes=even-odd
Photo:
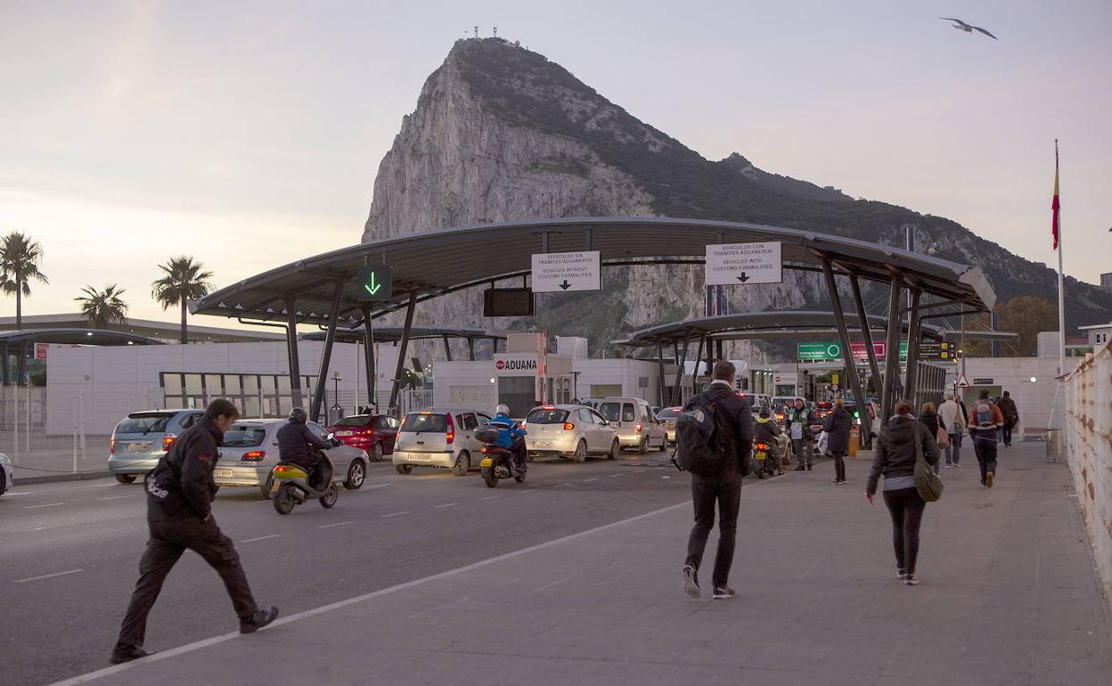
[[[742,500],[742,476],[753,455],[753,414],[748,402],[734,391],[734,366],[714,365],[711,387],[696,395],[676,419],[677,464],[692,473],[695,526],[687,540],[684,589],[699,597],[698,568],[703,561],[714,508],[718,506],[718,550],[714,558],[713,597],[734,597],[727,586],[734,560],[737,510]]]

